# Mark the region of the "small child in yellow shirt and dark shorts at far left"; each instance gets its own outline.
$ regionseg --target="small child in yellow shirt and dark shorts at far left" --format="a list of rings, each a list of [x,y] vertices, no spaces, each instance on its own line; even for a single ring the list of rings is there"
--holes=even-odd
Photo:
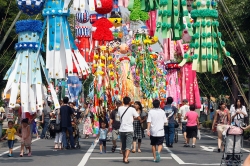
[[[13,125],[14,125],[14,122],[13,121],[9,121],[8,122],[8,129],[6,131],[6,134],[3,138],[1,138],[1,141],[8,137],[8,146],[9,146],[9,154],[8,156],[9,157],[12,157],[12,149],[13,149],[13,146],[14,146],[14,142],[15,142],[15,134],[16,134],[16,129],[13,128]]]

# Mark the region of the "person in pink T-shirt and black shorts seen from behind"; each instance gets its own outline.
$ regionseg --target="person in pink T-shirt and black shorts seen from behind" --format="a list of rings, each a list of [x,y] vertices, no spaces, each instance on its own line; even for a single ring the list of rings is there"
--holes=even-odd
[[[195,112],[195,105],[190,105],[190,111],[185,114],[184,120],[187,120],[187,142],[184,147],[190,147],[189,141],[192,138],[192,148],[195,148],[197,130],[200,128],[199,115]]]

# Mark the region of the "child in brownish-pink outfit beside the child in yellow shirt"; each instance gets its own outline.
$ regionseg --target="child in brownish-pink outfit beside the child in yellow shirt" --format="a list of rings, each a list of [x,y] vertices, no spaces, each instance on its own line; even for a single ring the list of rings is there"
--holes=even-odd
[[[20,157],[23,157],[24,146],[29,150],[28,156],[31,156],[31,132],[28,124],[28,119],[22,120],[22,139],[21,139],[21,153]]]

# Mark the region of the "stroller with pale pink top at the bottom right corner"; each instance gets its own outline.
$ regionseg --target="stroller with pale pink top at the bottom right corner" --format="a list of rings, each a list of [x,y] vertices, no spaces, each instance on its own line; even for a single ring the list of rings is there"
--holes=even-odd
[[[230,126],[224,137],[224,153],[221,159],[221,166],[241,166],[243,154],[243,129],[237,126]]]

